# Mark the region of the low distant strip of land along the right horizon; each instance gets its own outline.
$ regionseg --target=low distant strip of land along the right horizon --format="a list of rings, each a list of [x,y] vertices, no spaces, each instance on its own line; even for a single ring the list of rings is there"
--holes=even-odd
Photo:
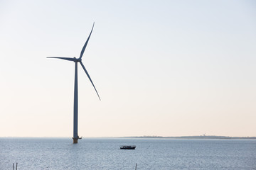
[[[180,137],[162,137],[162,136],[134,136],[124,138],[165,138],[165,139],[227,139],[227,140],[256,140],[256,137],[228,137],[228,136],[214,136],[214,135],[201,135],[201,136],[180,136]]]

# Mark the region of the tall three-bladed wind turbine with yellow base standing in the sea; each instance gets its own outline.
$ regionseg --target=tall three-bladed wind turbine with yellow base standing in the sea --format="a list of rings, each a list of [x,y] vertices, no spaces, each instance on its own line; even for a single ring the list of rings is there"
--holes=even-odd
[[[92,30],[94,27],[94,23],[92,25]],[[92,34],[92,30],[90,32],[90,35]],[[87,70],[85,69],[84,64],[82,64],[82,55],[85,52],[85,48],[87,46],[87,43],[90,39],[90,35],[87,38],[85,45],[82,47],[82,51],[80,53],[80,57],[79,58],[71,58],[71,57],[47,57],[47,58],[56,58],[56,59],[62,59],[62,60],[68,60],[71,62],[75,62],[75,87],[74,87],[74,127],[73,127],[73,143],[78,143],[78,140],[81,139],[82,137],[78,136],[78,62],[81,64],[82,69],[85,70],[85,74],[87,75],[87,77],[90,79],[90,82],[92,83],[93,88],[95,89],[97,96],[100,99],[100,96],[95,88],[95,85],[92,82],[92,79],[90,78],[90,75],[88,74]]]

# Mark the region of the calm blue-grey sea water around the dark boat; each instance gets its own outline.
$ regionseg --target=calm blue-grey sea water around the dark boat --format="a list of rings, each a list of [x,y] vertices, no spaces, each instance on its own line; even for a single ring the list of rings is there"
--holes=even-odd
[[[0,138],[0,169],[256,169],[256,140]],[[136,145],[122,150],[119,145]]]

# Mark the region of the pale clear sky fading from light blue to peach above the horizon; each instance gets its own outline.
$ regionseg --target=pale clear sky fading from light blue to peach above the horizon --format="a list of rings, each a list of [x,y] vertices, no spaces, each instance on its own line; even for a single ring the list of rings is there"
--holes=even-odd
[[[0,137],[256,136],[255,1],[0,0]]]

